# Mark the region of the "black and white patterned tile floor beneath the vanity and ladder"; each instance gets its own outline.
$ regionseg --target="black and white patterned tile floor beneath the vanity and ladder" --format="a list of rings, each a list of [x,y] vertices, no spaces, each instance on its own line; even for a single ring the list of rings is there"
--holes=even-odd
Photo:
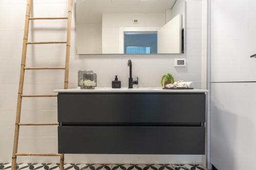
[[[0,163],[0,170],[10,170],[10,163]],[[58,163],[17,163],[17,170],[58,170]],[[64,170],[206,170],[200,164],[74,164]]]

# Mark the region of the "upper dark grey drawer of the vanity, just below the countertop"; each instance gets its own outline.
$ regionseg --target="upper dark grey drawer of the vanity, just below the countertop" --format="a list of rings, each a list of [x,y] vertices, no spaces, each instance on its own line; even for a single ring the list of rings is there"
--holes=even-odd
[[[202,123],[205,94],[58,94],[58,122]]]

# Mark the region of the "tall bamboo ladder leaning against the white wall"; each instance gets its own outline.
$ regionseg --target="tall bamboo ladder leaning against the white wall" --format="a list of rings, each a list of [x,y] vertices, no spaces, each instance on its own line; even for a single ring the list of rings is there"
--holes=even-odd
[[[19,126],[57,126],[58,123],[20,123],[20,113],[22,109],[22,98],[29,97],[55,97],[57,95],[52,94],[34,94],[34,95],[24,95],[23,85],[24,85],[24,75],[25,70],[37,70],[37,69],[65,69],[65,81],[64,88],[68,88],[69,83],[69,60],[70,60],[70,39],[71,39],[71,17],[72,17],[72,0],[69,0],[68,7],[68,17],[30,17],[32,0],[27,0],[27,10],[25,19],[25,30],[23,38],[23,50],[22,50],[22,64],[20,66],[20,77],[19,77],[19,87],[18,87],[18,100],[17,100],[17,110],[16,110],[16,120],[15,120],[15,132],[14,132],[14,142],[13,142],[13,153],[12,153],[12,170],[16,168],[17,156],[59,156],[60,157],[60,170],[63,170],[64,154],[41,154],[41,153],[17,153],[18,149],[18,137],[19,137]],[[35,19],[67,19],[67,41],[45,41],[45,42],[28,42],[29,33],[29,22]],[[28,44],[56,44],[56,43],[66,43],[66,64],[65,67],[26,67],[26,56],[27,56],[27,45]]]

